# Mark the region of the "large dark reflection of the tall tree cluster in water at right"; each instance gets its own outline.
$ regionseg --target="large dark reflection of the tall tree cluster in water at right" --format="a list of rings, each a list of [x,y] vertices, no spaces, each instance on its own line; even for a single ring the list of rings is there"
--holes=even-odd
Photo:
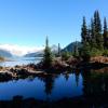
[[[108,72],[84,71],[83,94],[102,95],[108,93]]]

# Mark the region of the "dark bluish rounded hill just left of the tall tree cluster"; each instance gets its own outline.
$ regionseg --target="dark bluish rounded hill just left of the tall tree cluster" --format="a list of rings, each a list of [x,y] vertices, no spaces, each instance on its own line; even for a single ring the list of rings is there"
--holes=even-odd
[[[62,50],[62,52],[73,52],[73,49],[75,49],[75,45],[78,45],[78,48],[80,48],[81,46],[81,42],[79,42],[79,41],[77,41],[77,42],[72,42],[72,43],[70,43],[70,44],[68,44],[66,48],[64,48],[63,50]]]

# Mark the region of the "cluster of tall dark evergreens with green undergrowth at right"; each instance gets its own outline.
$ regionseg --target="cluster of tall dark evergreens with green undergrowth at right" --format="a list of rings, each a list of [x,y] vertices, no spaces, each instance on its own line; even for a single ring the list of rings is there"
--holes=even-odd
[[[95,11],[89,25],[86,24],[85,16],[83,17],[81,39],[82,48],[80,49],[80,56],[86,58],[99,55],[108,56],[107,19],[105,17],[102,25],[98,11]]]

